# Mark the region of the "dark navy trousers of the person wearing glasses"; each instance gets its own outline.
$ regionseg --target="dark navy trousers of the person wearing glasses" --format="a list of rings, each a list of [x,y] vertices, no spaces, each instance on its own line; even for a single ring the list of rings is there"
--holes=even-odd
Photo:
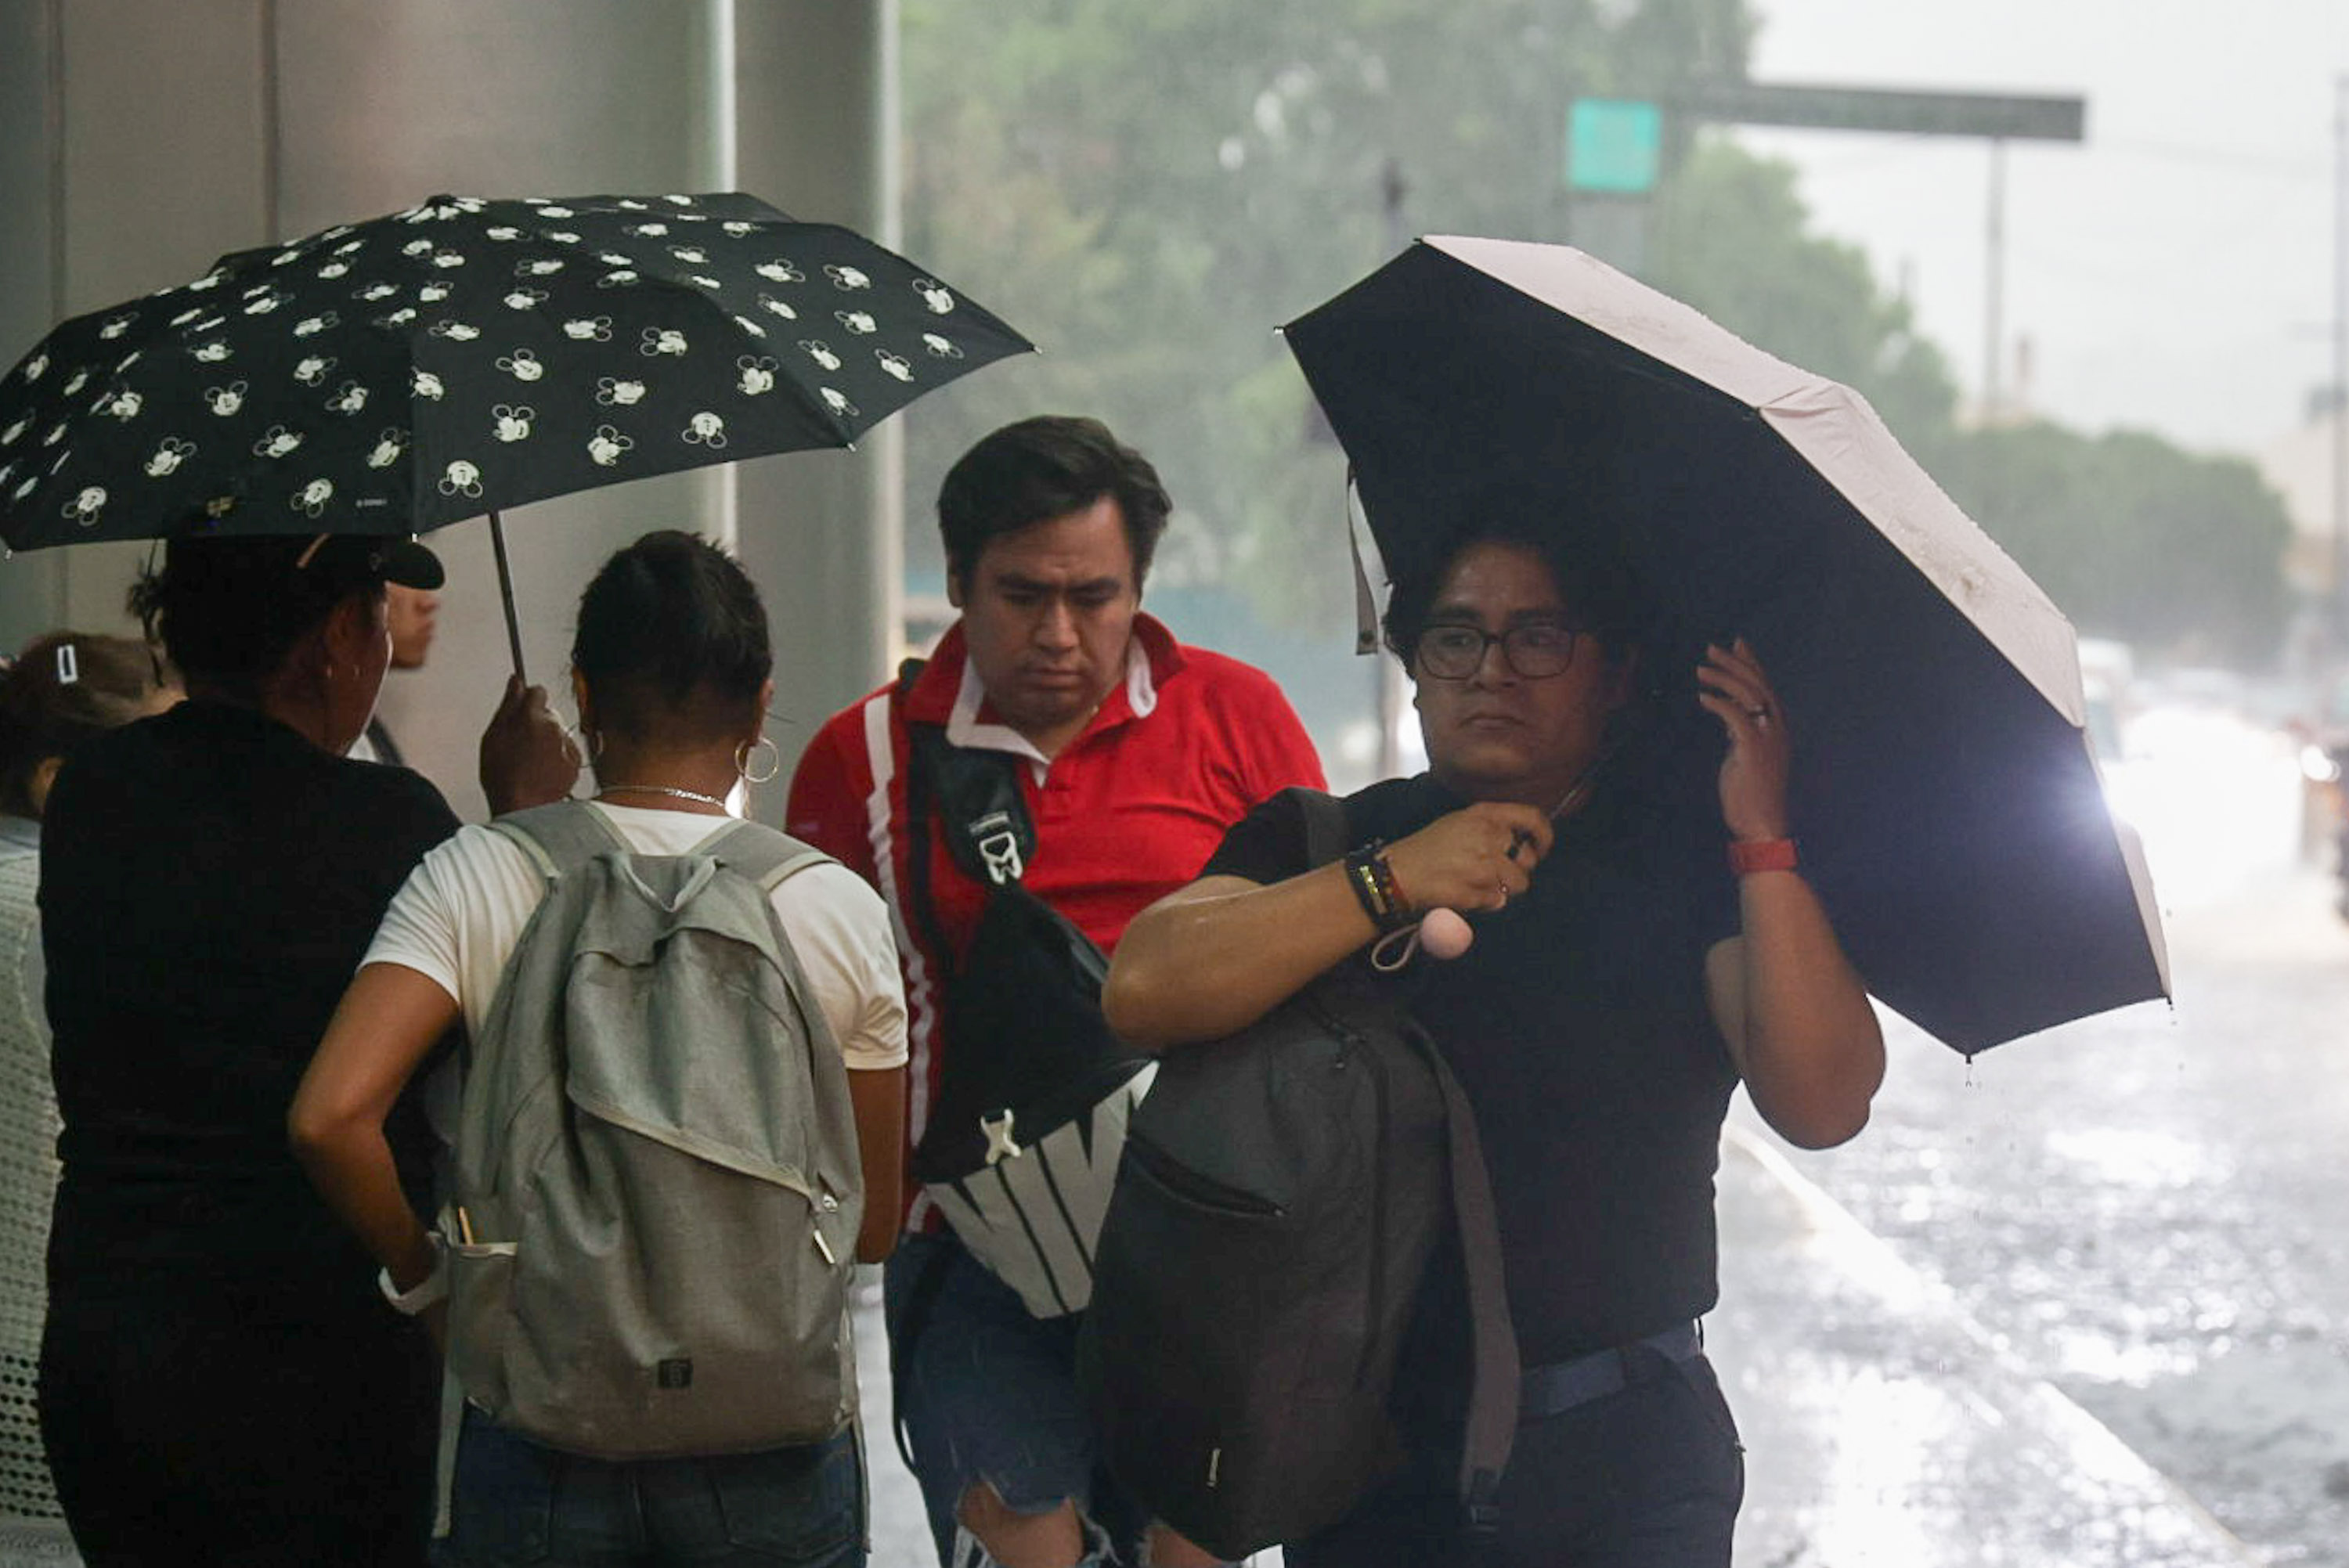
[[[1421,1444],[1353,1514],[1290,1545],[1290,1568],[1727,1568],[1745,1451],[1712,1364],[1633,1350],[1626,1371],[1628,1387],[1517,1427],[1489,1556],[1459,1533],[1456,1448]]]

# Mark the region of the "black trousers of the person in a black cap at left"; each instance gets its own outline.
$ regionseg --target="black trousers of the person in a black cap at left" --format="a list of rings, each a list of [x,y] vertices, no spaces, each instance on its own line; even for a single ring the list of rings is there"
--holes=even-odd
[[[40,1432],[89,1568],[420,1568],[439,1371],[383,1322],[52,1300]]]

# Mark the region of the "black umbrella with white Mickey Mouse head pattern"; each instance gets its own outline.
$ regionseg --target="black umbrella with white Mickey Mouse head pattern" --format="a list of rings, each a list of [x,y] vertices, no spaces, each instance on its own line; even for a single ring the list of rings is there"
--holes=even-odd
[[[0,540],[423,533],[853,446],[1031,347],[747,195],[432,197],[52,331],[0,378]]]

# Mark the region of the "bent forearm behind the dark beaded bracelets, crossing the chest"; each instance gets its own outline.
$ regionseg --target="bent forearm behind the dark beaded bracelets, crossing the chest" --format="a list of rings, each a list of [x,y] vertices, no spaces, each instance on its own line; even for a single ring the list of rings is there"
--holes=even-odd
[[[1125,927],[1102,1009],[1144,1052],[1221,1040],[1374,934],[1341,866],[1266,887],[1210,878],[1151,904]]]

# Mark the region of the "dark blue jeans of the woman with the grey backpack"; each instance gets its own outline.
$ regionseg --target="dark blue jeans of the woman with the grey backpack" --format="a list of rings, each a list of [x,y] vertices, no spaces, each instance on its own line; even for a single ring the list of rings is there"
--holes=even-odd
[[[456,1448],[442,1568],[862,1568],[864,1453],[839,1437],[766,1453],[590,1460],[474,1408]]]

